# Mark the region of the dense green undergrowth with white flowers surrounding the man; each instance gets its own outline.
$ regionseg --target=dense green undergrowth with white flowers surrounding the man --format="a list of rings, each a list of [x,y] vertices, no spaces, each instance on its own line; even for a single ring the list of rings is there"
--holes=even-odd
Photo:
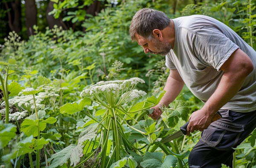
[[[175,16],[161,1],[148,2],[108,7],[84,23],[86,33],[55,27],[20,41],[10,32],[0,57],[1,167],[188,167],[200,132],[165,144],[161,139],[203,103],[184,87],[162,119],[147,116],[169,71],[163,57],[145,55],[131,42],[131,18],[145,6],[171,18],[207,14],[255,49],[255,1],[205,1]],[[233,165],[256,167],[255,139],[253,132],[239,145]]]

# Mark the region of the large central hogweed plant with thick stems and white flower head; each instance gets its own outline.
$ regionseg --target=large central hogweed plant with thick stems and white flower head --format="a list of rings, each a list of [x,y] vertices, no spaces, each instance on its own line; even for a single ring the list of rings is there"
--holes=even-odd
[[[77,123],[77,129],[81,131],[77,145],[71,144],[52,155],[50,168],[61,166],[68,160],[70,166],[75,168],[89,163],[93,168],[117,168],[116,166],[121,162],[127,162],[129,167],[137,165],[129,156],[129,151],[138,152],[140,149],[128,140],[128,134],[135,131],[153,144],[157,137],[154,133],[162,129],[160,127],[155,130],[156,122],[152,119],[147,119],[146,122],[134,119],[136,114],[144,116],[148,113],[146,110],[161,99],[151,98],[147,99],[148,101],[137,102],[138,98],[146,95],[144,91],[135,89],[139,83],[143,84],[145,81],[140,78],[100,81],[81,92],[80,96],[83,99],[62,106],[61,113],[73,114],[81,111],[86,117],[85,122]],[[91,105],[93,108],[84,108],[85,105]],[[98,109],[98,107],[101,109],[96,113],[90,113],[89,109]],[[140,120],[141,117],[138,119]],[[143,123],[143,129],[129,125],[130,121],[137,125]]]

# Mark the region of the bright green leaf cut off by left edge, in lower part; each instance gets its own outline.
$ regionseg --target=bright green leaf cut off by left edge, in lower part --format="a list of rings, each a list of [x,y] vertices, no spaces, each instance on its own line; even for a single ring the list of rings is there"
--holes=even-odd
[[[4,124],[0,121],[0,149],[8,145],[9,141],[16,136],[16,126],[13,124]]]

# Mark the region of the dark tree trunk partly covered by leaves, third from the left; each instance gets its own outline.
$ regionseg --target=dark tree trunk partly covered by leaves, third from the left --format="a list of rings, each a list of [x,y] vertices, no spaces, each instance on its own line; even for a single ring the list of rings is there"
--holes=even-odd
[[[66,24],[62,21],[61,17],[58,17],[58,19],[55,19],[54,16],[51,14],[49,15],[48,13],[53,10],[53,4],[54,2],[49,1],[47,9],[46,9],[46,20],[48,22],[49,28],[53,29],[54,25],[57,25],[58,27],[62,27],[62,29],[67,30],[68,27]]]

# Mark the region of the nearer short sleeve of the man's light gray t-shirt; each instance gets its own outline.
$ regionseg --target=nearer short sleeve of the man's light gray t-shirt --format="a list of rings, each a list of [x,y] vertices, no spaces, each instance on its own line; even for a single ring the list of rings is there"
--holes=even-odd
[[[195,34],[195,55],[204,64],[214,67],[218,71],[238,48],[239,46],[214,27],[205,26]]]

